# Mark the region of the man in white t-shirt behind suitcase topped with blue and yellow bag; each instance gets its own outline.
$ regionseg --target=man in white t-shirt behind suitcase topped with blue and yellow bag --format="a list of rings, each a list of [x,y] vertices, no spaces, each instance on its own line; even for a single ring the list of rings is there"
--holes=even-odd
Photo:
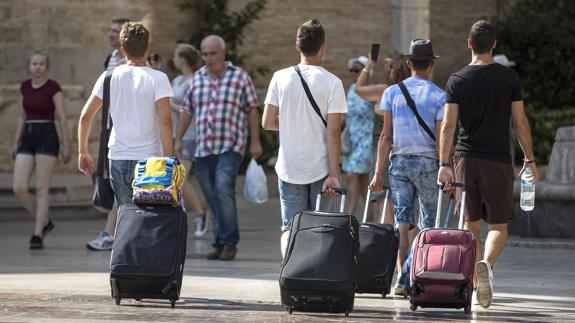
[[[118,206],[132,201],[132,180],[138,160],[172,155],[172,87],[166,74],[146,66],[150,33],[140,22],[128,22],[120,33],[125,65],[114,69],[110,81],[110,115],[113,127],[108,147],[109,173]],[[84,105],[78,125],[78,168],[90,176],[95,165],[88,138],[96,113],[102,107],[103,73]]]

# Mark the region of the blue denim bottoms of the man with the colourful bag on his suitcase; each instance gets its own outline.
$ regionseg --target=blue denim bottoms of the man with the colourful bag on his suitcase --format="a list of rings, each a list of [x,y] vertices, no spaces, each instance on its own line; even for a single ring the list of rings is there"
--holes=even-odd
[[[118,207],[132,203],[132,182],[137,160],[110,160],[110,182]]]

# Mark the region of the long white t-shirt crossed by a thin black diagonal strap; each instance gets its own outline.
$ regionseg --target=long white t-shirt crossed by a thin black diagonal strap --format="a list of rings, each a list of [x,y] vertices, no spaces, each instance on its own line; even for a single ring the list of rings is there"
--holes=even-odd
[[[299,68],[325,120],[328,114],[347,112],[339,78],[321,66],[300,64]],[[279,108],[278,177],[292,184],[310,184],[327,176],[327,129],[293,66],[274,73],[265,103]]]

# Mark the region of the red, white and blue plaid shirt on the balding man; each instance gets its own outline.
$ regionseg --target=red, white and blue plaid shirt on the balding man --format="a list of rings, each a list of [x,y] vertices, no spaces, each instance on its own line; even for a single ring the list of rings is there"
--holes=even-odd
[[[196,157],[229,151],[243,154],[249,132],[249,112],[259,106],[249,74],[231,63],[217,79],[206,67],[194,74],[184,99],[184,110],[195,115]]]

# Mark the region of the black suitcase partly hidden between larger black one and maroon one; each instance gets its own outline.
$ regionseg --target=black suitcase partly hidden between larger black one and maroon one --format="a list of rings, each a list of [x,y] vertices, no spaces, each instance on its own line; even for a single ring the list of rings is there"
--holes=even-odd
[[[377,202],[367,191],[363,223],[359,227],[359,266],[357,293],[381,294],[385,297],[391,291],[393,274],[399,249],[399,232],[391,224],[384,224],[389,189],[385,188],[385,200],[379,224],[367,223],[369,204]]]

